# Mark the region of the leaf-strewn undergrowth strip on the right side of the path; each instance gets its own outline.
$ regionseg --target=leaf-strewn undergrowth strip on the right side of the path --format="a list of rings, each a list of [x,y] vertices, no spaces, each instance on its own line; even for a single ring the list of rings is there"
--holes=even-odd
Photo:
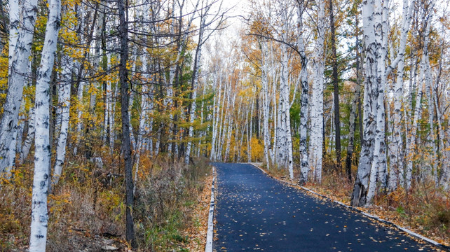
[[[298,181],[289,179],[285,169],[267,170],[262,163],[252,165],[263,169],[274,179],[302,189]],[[298,178],[299,174],[299,168],[296,167],[294,178]],[[353,183],[350,183],[344,174],[324,172],[321,184],[308,182],[304,188],[350,205]],[[313,193],[309,194],[320,197]],[[357,207],[357,209],[450,246],[450,193],[435,188],[432,182],[416,183],[408,192],[399,189],[390,194],[378,195],[371,207]]]

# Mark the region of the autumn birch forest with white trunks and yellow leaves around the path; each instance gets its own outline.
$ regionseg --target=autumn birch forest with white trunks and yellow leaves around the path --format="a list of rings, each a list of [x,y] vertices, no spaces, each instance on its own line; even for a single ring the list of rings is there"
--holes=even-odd
[[[208,162],[450,239],[448,2],[235,5],[0,2],[0,250],[196,251]]]

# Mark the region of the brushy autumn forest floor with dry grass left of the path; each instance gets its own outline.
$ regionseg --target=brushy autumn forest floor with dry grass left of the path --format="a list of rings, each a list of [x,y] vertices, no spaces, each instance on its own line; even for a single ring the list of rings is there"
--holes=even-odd
[[[135,193],[138,248],[125,242],[121,159],[103,166],[72,157],[48,197],[47,251],[203,251],[212,181],[205,159],[184,165],[141,157]],[[27,251],[32,162],[15,169],[0,186],[0,251]]]

